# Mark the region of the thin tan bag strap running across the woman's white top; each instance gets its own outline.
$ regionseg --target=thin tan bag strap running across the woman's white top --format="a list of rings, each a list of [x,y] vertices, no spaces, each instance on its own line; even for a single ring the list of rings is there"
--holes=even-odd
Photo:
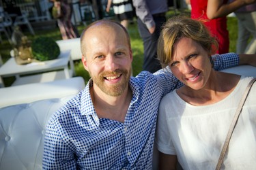
[[[238,109],[236,110],[236,114],[233,118],[233,121],[231,122],[231,125],[229,127],[229,132],[227,133],[227,137],[225,140],[225,143],[223,145],[223,149],[221,150],[221,155],[218,158],[218,164],[216,166],[216,170],[221,169],[221,165],[223,164],[223,159],[225,156],[225,153],[227,152],[227,148],[229,146],[229,141],[231,138],[231,135],[233,133],[233,130],[235,129],[236,123],[238,122],[238,118],[240,116],[242,107],[244,105],[244,102],[246,100],[246,97],[248,96],[249,91],[251,90],[251,86],[253,86],[253,83],[255,82],[256,78],[253,78],[253,80],[251,80],[251,82],[249,82],[248,86],[246,87],[245,91],[244,91],[244,95],[242,96],[242,99],[238,105]]]

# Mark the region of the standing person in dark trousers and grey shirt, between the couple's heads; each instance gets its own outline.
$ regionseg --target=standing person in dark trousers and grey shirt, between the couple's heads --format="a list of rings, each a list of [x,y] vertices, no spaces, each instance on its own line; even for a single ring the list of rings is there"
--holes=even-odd
[[[143,39],[143,71],[154,73],[161,69],[156,46],[160,29],[168,11],[167,0],[132,0],[137,15],[139,35]]]

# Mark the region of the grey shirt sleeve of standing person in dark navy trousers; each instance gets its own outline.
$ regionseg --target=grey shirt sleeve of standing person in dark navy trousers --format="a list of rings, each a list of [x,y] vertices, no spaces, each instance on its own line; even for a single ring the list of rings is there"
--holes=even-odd
[[[132,3],[135,7],[136,15],[147,26],[147,29],[156,25],[145,0],[132,0]]]

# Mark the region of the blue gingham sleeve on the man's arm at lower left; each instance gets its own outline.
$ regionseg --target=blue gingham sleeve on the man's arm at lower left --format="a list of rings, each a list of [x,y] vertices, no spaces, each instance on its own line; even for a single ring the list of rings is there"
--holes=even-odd
[[[76,169],[73,152],[61,139],[53,124],[48,124],[44,137],[43,169]]]

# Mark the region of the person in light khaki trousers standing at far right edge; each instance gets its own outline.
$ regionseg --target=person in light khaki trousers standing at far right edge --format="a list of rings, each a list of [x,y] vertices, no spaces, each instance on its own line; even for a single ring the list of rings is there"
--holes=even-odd
[[[235,11],[235,14],[238,18],[236,52],[239,54],[256,54],[256,3],[240,7]]]

